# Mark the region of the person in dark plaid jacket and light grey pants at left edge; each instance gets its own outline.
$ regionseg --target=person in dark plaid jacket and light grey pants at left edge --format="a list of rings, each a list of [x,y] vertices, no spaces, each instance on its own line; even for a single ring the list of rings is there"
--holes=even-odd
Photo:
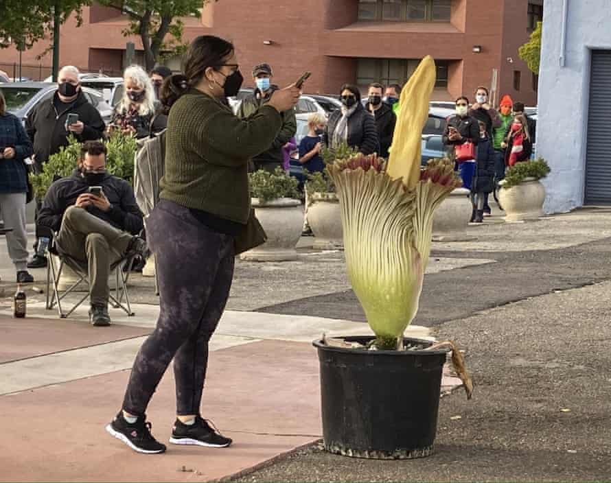
[[[25,196],[27,169],[25,158],[32,156],[32,142],[21,120],[6,109],[0,90],[0,218],[12,231],[6,233],[8,255],[12,260],[17,283],[32,283],[27,272],[27,231],[25,230]]]

